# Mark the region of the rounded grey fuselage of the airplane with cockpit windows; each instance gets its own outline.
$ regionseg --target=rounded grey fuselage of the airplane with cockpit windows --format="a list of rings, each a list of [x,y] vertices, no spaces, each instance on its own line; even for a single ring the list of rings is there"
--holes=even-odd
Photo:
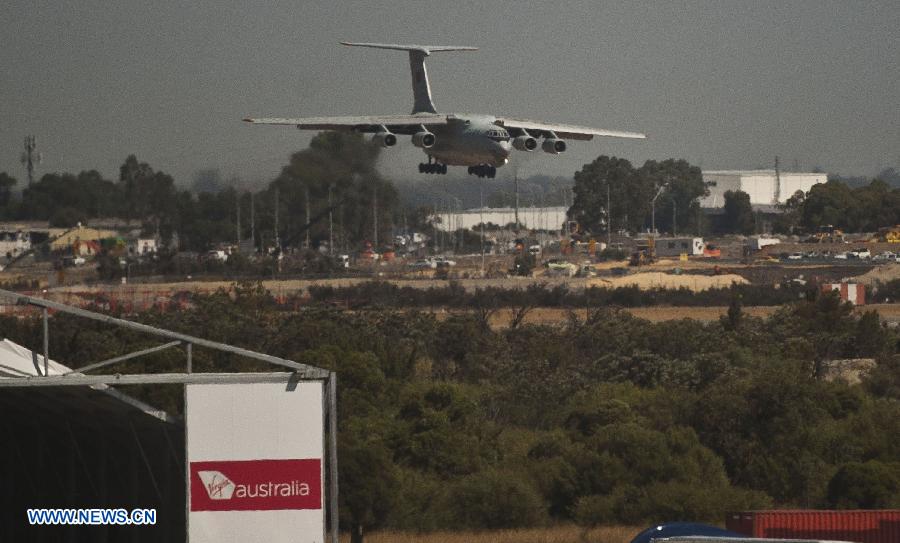
[[[503,166],[512,145],[509,133],[494,120],[490,115],[453,115],[452,122],[432,129],[434,145],[422,150],[436,162],[451,166]]]

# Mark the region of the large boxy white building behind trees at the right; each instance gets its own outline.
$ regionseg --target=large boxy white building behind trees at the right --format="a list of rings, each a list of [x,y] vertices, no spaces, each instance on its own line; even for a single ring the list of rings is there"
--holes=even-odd
[[[765,206],[783,204],[798,190],[809,192],[818,183],[828,181],[825,173],[776,172],[775,170],[704,171],[703,181],[709,196],[700,206],[721,208],[727,191],[743,191],[750,195],[750,204]]]

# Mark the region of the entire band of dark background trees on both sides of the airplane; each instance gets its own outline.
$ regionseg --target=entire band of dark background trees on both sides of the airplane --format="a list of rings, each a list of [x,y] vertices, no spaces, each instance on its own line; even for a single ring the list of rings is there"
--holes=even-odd
[[[160,232],[165,240],[177,234],[183,249],[203,251],[247,239],[251,230],[257,246],[272,246],[277,215],[277,237],[287,245],[305,242],[308,233],[313,245],[331,239],[338,248],[359,248],[364,241],[374,243],[376,232],[381,233],[379,245],[389,245],[394,227],[430,230],[431,210],[404,206],[394,184],[376,170],[379,152],[358,134],[321,133],[255,193],[223,188],[214,171],[202,172],[193,190],[179,189],[170,175],[134,155],[126,158],[115,181],[95,170],[51,173],[25,187],[21,198],[14,197],[17,180],[0,172],[0,220],[47,220],[67,227],[116,217],[137,221],[146,233]],[[551,201],[565,199],[564,190],[553,186],[563,192]],[[706,194],[700,168],[685,160],[648,160],[635,167],[626,159],[601,155],[575,173],[569,217],[595,236],[607,228],[634,233],[654,226],[690,233],[757,230],[746,193],[727,192],[718,218],[701,212],[699,200]],[[855,188],[831,180],[792,195],[781,208],[772,223],[779,233],[809,232],[824,224],[875,231],[900,223],[900,189],[879,179]],[[553,229],[557,227],[562,225]]]

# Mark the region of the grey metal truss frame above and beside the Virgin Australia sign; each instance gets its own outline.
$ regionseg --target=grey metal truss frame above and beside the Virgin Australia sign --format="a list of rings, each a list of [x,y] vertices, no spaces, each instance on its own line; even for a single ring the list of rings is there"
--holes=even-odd
[[[44,374],[33,377],[20,377],[0,379],[0,393],[3,389],[28,388],[28,387],[59,387],[59,386],[96,386],[96,385],[151,385],[151,384],[223,384],[223,383],[273,383],[296,381],[320,381],[325,395],[325,416],[328,447],[328,532],[332,543],[339,543],[338,533],[338,463],[337,463],[337,374],[332,371],[317,368],[307,364],[301,364],[292,360],[235,347],[225,343],[210,341],[207,339],[173,332],[164,328],[157,328],[138,322],[111,317],[102,313],[96,313],[77,307],[26,296],[17,292],[0,289],[0,305],[4,305],[2,299],[12,300],[16,305],[32,306],[40,309],[43,327],[43,357]],[[49,375],[50,361],[50,326],[49,312],[59,312],[74,315],[89,320],[99,321],[113,326],[146,333],[152,336],[168,339],[167,343],[126,353],[114,358],[87,364],[73,369],[62,375]],[[119,362],[133,360],[141,356],[154,354],[173,347],[184,346],[185,372],[184,373],[144,373],[144,374],[107,374],[85,375],[86,372],[107,367]],[[291,371],[276,372],[245,372],[245,373],[212,373],[193,371],[193,347],[203,347],[219,352],[234,354],[245,358],[267,362],[280,368]],[[132,428],[132,432],[134,429]],[[135,435],[136,437],[136,435]],[[185,512],[187,515],[187,511]],[[186,519],[185,519],[186,520]]]

